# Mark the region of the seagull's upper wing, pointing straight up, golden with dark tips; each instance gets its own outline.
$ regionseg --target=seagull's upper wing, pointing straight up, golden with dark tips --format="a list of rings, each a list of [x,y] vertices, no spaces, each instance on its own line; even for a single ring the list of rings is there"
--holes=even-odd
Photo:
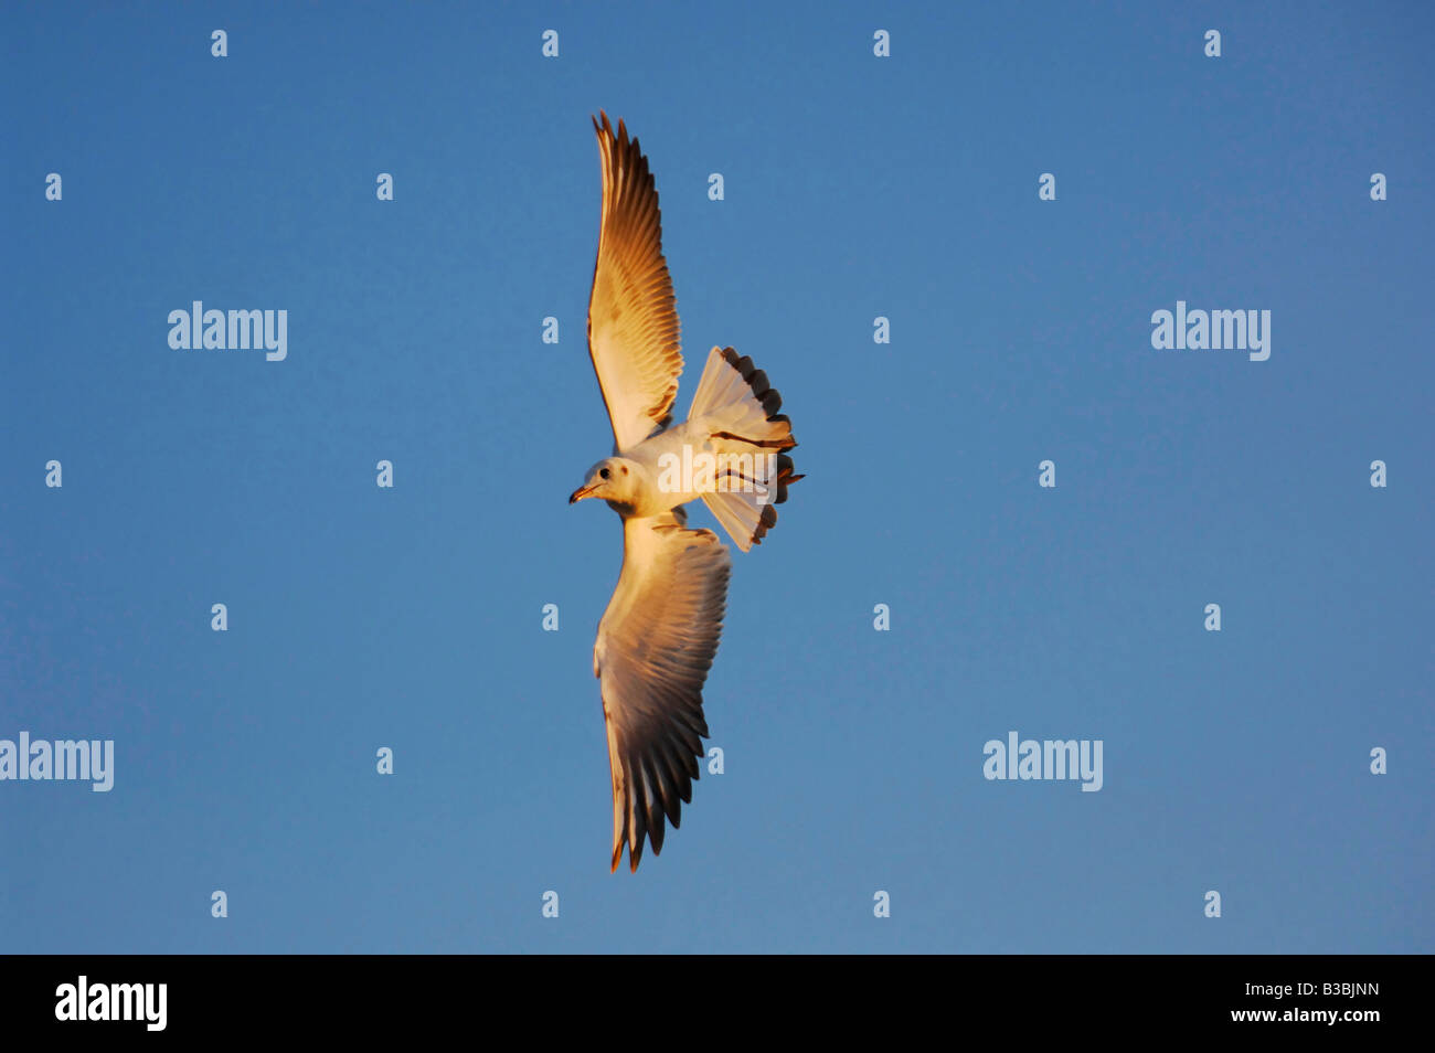
[[[621,121],[617,135],[607,113],[593,128],[603,161],[603,221],[588,297],[588,354],[621,452],[667,423],[683,354],[647,158]]]

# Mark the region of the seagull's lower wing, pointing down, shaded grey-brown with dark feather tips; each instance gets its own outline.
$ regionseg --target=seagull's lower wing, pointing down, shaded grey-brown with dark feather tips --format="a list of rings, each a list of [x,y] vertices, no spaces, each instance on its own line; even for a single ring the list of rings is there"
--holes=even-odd
[[[716,534],[672,514],[623,521],[623,572],[593,647],[613,770],[613,869],[624,844],[637,869],[644,835],[662,852],[663,816],[676,829],[680,802],[693,799],[729,565]]]

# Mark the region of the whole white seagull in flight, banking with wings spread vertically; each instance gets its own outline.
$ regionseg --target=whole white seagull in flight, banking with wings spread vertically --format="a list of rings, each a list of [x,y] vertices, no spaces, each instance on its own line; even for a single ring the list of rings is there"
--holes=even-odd
[[[613,456],[568,498],[601,498],[623,519],[623,570],[598,623],[598,679],[613,775],[613,871],[637,871],[644,836],[692,803],[703,681],[718,653],[730,559],[718,534],[689,529],[702,498],[743,552],[778,522],[796,439],[782,397],[732,347],[713,347],[687,420],[673,425],[683,372],[657,189],[637,139],[593,119],[603,166],[598,258],[588,298],[588,356],[613,425]]]

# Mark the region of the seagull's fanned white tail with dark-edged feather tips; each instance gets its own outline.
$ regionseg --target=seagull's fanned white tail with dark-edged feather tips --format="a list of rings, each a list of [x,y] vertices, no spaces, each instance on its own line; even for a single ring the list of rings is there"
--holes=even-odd
[[[687,428],[706,439],[705,452],[716,462],[715,488],[703,492],[703,501],[743,552],[762,544],[778,522],[773,505],[786,501],[788,486],[802,478],[792,473],[788,450],[798,440],[779,409],[782,396],[752,359],[732,347],[709,351]]]

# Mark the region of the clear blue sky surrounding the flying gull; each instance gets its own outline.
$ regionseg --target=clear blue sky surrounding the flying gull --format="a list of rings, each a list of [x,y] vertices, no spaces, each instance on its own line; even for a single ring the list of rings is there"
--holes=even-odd
[[[0,950],[1435,950],[1432,30],[6,4],[0,737],[116,775],[0,783]],[[591,673],[620,528],[565,504],[611,443],[600,108],[657,176],[679,410],[733,344],[808,472],[735,552],[726,772],[637,875]],[[1154,350],[1178,298],[1270,310],[1270,360]],[[288,359],[171,350],[192,300],[287,310]],[[986,780],[1010,730],[1104,740],[1104,789]]]

